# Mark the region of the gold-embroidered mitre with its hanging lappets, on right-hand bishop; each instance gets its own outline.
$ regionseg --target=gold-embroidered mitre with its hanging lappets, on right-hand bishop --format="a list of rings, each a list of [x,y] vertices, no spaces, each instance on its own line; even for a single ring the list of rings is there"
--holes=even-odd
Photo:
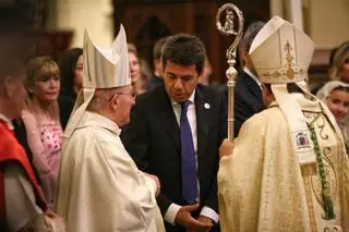
[[[250,57],[262,83],[270,84],[275,100],[289,124],[289,133],[300,164],[314,163],[310,131],[297,99],[287,89],[296,83],[305,95],[308,69],[314,42],[299,28],[279,16],[274,16],[255,36]],[[311,96],[313,97],[313,96]]]

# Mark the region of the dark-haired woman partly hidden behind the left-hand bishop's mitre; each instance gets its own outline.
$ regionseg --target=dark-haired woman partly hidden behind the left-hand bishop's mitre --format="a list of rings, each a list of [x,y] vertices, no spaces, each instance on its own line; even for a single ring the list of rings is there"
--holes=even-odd
[[[61,94],[59,96],[60,119],[65,129],[76,97],[83,86],[83,49],[68,50],[59,61],[61,72]]]

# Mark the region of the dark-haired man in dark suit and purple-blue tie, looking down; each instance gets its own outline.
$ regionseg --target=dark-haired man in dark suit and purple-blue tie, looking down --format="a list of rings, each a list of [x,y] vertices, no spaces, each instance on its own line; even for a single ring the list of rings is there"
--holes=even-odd
[[[167,232],[219,230],[216,179],[227,107],[218,90],[197,85],[205,56],[195,36],[169,38],[164,85],[136,98],[121,134],[140,169],[160,180]]]

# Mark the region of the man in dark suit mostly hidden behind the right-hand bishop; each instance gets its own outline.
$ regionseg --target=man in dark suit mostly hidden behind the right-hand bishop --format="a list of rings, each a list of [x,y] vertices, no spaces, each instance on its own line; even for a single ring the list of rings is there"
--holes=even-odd
[[[234,136],[238,136],[244,121],[264,109],[262,84],[249,57],[251,44],[264,24],[263,22],[252,23],[240,41],[240,56],[244,65],[236,80],[234,87]],[[225,87],[225,96],[226,98],[228,96],[227,87]]]

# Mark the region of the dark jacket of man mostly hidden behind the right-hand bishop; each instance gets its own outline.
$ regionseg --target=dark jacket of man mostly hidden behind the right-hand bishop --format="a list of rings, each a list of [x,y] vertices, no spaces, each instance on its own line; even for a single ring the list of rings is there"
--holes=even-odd
[[[225,87],[225,96],[228,103],[228,88]],[[236,80],[234,87],[234,136],[250,117],[264,109],[262,90],[257,83],[245,72],[241,72]]]

